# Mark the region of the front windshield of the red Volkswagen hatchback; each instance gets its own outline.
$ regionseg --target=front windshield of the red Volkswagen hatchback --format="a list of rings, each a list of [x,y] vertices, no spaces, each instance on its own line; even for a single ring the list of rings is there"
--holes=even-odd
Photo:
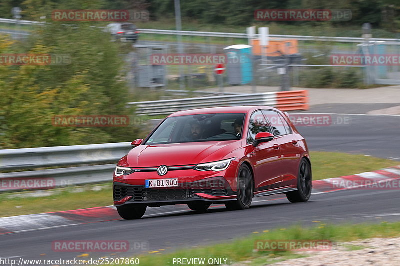
[[[168,117],[144,144],[238,140],[244,115],[219,113]]]

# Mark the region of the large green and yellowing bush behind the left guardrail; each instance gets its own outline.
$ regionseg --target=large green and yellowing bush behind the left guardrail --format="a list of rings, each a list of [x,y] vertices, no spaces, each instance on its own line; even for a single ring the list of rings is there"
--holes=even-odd
[[[118,44],[99,28],[53,23],[17,46],[1,41],[1,53],[66,54],[62,65],[0,66],[2,148],[128,141],[137,126],[58,127],[55,115],[129,115],[124,61]],[[136,136],[135,136],[136,137]]]

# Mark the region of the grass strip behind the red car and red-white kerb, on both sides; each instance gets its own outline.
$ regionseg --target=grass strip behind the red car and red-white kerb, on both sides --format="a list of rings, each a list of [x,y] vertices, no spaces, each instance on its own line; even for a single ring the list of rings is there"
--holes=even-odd
[[[395,161],[364,155],[339,152],[311,152],[313,180],[358,174],[396,165]],[[111,183],[101,184],[102,189],[95,191],[96,185],[53,189],[54,195],[43,197],[19,197],[15,192],[0,194],[0,217],[32,213],[56,212],[96,206],[112,205]],[[80,188],[82,192],[74,192]],[[12,198],[18,194],[18,197]]]

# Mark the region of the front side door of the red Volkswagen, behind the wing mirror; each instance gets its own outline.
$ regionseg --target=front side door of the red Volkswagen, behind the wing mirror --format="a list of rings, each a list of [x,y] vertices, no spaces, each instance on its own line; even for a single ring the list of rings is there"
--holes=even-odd
[[[280,151],[276,140],[252,145],[259,132],[272,133],[268,121],[261,110],[251,114],[247,130],[247,156],[254,166],[254,192],[276,188],[280,178]]]

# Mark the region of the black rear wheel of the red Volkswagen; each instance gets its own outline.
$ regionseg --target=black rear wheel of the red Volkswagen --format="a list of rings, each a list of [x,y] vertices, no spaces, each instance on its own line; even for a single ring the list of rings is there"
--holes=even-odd
[[[312,190],[311,166],[307,159],[303,158],[298,167],[297,190],[286,193],[290,202],[308,201]]]

